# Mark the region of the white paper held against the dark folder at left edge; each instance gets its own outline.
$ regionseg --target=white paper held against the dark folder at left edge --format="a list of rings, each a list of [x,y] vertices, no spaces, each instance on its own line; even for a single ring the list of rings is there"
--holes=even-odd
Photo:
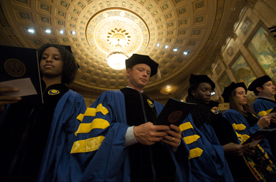
[[[37,94],[36,88],[34,87],[32,81],[29,77],[0,82],[0,87],[18,88],[18,91],[16,91],[16,92],[6,92],[1,95],[26,96],[26,95]]]

